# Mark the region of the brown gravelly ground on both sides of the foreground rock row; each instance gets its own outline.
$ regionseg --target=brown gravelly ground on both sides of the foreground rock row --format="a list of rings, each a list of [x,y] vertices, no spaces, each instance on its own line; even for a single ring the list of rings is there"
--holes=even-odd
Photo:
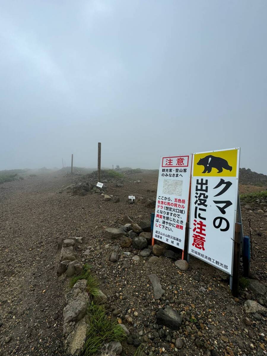
[[[117,203],[99,194],[60,194],[71,178],[57,173],[0,185],[0,355],[66,355],[62,313],[68,280],[57,277],[57,240],[73,236],[83,237],[79,259],[93,266],[108,296],[108,312],[130,331],[122,355],[133,355],[141,342],[147,355],[266,354],[267,314],[244,310],[246,300],[267,307],[265,286],[253,282],[235,299],[227,275],[196,258],[181,271],[171,258],[161,255],[151,262],[152,252],[143,257],[132,246],[121,247],[120,239],[104,237],[103,227],[119,227],[122,215],[139,222],[153,211],[145,203],[129,204],[128,195],[155,198],[157,173],[125,180],[120,187],[106,183],[108,194],[120,198]],[[240,190],[247,193],[247,186]],[[242,215],[246,235],[251,220],[252,276],[266,283],[267,217],[258,210],[243,206]],[[118,254],[115,262],[112,252]],[[154,298],[151,274],[165,291],[160,299]],[[168,305],[181,316],[176,330],[157,322],[159,309]]]

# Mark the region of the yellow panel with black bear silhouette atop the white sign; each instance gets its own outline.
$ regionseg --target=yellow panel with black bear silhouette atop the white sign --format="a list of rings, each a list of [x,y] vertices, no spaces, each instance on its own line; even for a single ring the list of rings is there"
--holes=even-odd
[[[235,177],[238,148],[196,153],[194,155],[193,176]]]

